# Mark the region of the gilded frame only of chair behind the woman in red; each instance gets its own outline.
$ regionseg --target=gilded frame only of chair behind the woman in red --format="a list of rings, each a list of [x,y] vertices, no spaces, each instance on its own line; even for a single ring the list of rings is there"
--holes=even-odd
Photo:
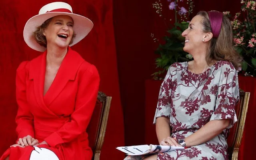
[[[108,123],[108,114],[112,97],[106,96],[103,92],[98,92],[97,99],[102,102],[102,112],[100,115],[100,125],[97,132],[95,143],[94,160],[100,160],[100,151],[104,142],[106,127]]]

